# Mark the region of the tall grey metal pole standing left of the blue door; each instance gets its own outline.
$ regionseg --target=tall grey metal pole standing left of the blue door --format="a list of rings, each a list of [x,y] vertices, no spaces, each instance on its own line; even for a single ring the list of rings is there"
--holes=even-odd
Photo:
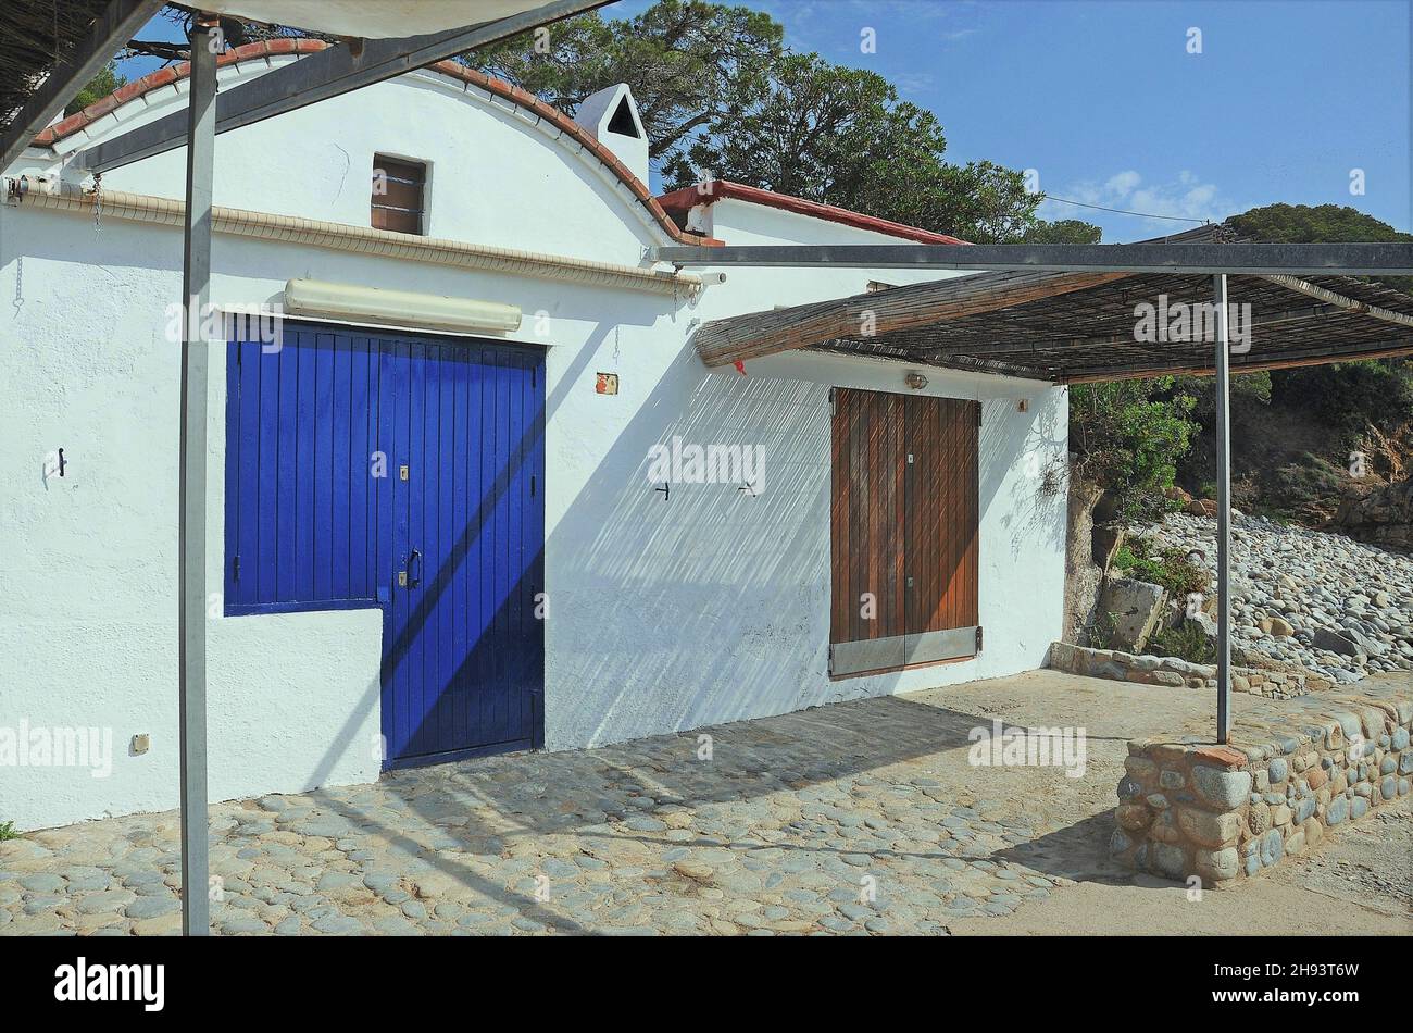
[[[211,931],[206,820],[206,367],[211,301],[211,191],[216,158],[215,18],[191,30],[187,99],[187,225],[182,254],[178,646],[181,716],[181,928]]]

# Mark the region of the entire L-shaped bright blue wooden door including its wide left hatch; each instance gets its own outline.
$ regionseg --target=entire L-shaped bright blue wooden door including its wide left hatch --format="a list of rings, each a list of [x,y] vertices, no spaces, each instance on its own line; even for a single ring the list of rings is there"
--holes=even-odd
[[[226,613],[380,606],[386,767],[540,746],[544,352],[291,321],[227,386]]]

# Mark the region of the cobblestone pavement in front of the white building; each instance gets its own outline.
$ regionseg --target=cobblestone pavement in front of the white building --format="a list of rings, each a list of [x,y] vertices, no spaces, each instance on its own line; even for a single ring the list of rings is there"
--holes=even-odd
[[[212,924],[227,935],[945,933],[1072,879],[1121,879],[1104,844],[1125,740],[1193,705],[1187,692],[1036,671],[218,804]],[[968,765],[968,733],[993,715],[1082,725],[1085,714],[1084,777]],[[177,837],[168,811],[0,844],[0,935],[175,933]]]

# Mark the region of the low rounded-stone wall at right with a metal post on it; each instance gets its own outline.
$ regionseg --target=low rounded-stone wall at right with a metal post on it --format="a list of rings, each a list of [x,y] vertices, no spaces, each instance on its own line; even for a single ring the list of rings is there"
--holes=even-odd
[[[1320,692],[1243,715],[1231,746],[1129,743],[1111,855],[1207,886],[1299,856],[1409,793],[1413,690]]]

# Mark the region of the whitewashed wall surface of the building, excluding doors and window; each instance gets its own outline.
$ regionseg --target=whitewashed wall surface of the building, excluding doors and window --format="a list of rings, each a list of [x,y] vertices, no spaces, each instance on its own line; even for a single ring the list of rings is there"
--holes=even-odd
[[[143,117],[181,103],[174,89]],[[435,236],[622,263],[666,243],[596,163],[431,73],[219,137],[216,203],[366,225],[374,151],[431,163]],[[177,196],[181,163],[138,163],[106,185]],[[21,170],[44,171],[11,174]],[[733,243],[883,239],[739,202],[716,209],[716,233]],[[698,321],[903,283],[894,271],[732,270],[691,301],[226,236],[215,268],[216,302],[277,301],[290,277],[459,294],[521,307],[510,338],[550,345],[552,749],[1027,670],[1060,633],[1064,506],[1040,495],[1039,471],[1064,454],[1064,393],[930,370],[930,393],[986,400],[986,649],[828,680],[827,393],[901,390],[903,370],[781,356],[742,377],[705,370],[687,342]],[[177,230],[109,219],[97,232],[88,216],[0,208],[0,728],[110,728],[114,753],[106,779],[0,766],[0,820],[21,828],[177,803],[179,362],[164,328],[179,284]],[[538,311],[544,338],[528,318]],[[212,355],[208,581],[219,591],[225,377]],[[601,370],[620,374],[617,396],[593,391]],[[674,485],[664,503],[647,455],[674,434],[760,447],[763,492]],[[59,447],[66,476],[45,482],[41,464]],[[372,609],[213,618],[212,798],[377,777],[380,637]],[[148,753],[129,755],[134,733],[151,736]]]

